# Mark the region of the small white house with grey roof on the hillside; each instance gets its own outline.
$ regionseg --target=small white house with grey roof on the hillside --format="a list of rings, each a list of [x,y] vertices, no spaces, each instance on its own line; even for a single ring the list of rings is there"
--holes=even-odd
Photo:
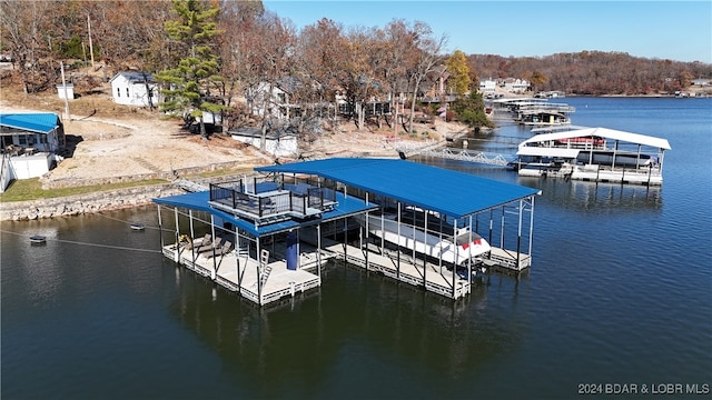
[[[111,78],[113,101],[119,104],[149,107],[158,106],[159,88],[147,72],[119,72]]]

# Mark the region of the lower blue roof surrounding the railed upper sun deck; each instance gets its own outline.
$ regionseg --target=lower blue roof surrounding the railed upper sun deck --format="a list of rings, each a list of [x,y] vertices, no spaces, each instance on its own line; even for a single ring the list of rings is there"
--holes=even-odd
[[[195,193],[169,196],[165,198],[154,199],[154,202],[157,204],[207,211],[216,217],[221,218],[226,222],[230,222],[234,226],[246,230],[247,232],[249,232],[255,237],[273,234],[281,231],[288,231],[294,228],[315,224],[317,222],[326,222],[329,220],[348,217],[352,214],[356,214],[356,213],[376,208],[376,204],[373,204],[373,203],[366,204],[364,200],[360,200],[354,197],[346,198],[344,197],[343,193],[336,193],[336,201],[338,202],[338,206],[334,210],[323,213],[322,218],[318,220],[314,220],[309,222],[298,222],[295,220],[288,220],[284,222],[255,227],[255,222],[233,216],[228,212],[215,209],[210,207],[210,204],[208,204],[208,201],[210,201],[210,191],[201,191],[201,192],[195,192]]]

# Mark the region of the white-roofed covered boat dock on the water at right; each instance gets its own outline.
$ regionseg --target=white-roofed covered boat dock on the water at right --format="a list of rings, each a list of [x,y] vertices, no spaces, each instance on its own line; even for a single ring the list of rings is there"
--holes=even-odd
[[[644,149],[656,151],[656,157]],[[528,177],[662,184],[663,156],[670,149],[665,139],[585,128],[536,134],[523,141],[517,160],[510,167]]]

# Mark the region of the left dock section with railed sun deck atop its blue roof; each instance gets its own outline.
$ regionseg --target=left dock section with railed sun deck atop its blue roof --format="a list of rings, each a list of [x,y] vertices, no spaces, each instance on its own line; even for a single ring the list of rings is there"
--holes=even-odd
[[[300,230],[374,208],[327,188],[256,178],[154,202],[164,256],[260,306],[322,284],[319,267],[333,256],[299,243]]]

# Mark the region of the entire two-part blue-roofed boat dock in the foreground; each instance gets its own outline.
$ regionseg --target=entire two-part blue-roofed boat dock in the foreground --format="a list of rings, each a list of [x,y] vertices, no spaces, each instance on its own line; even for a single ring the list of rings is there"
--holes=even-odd
[[[396,159],[326,159],[256,171],[261,178],[154,202],[166,258],[259,306],[320,287],[329,259],[453,300],[467,296],[473,276],[488,268],[518,272],[531,267],[536,189]],[[438,186],[423,184],[428,181]],[[415,207],[427,221],[424,227],[392,221],[404,227],[403,240],[388,243],[362,221],[390,207]],[[475,230],[487,216],[485,241]],[[517,227],[505,234],[507,219]],[[431,220],[442,221],[438,230],[428,228]],[[441,256],[416,252],[425,238],[444,243],[431,246]],[[500,243],[490,250],[493,238]],[[516,242],[514,250],[505,249],[505,238]],[[488,251],[475,253],[481,242]],[[444,259],[446,251],[451,256]]]

